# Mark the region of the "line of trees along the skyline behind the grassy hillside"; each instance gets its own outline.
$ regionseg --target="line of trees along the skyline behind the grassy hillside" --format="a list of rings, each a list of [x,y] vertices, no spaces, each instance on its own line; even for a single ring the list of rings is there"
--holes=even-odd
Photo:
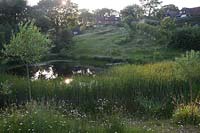
[[[135,20],[150,17],[162,20],[167,11],[179,11],[175,5],[161,6],[159,0],[140,0],[140,5],[129,5],[121,11],[102,8],[90,11],[79,9],[76,3],[68,0],[41,0],[35,6],[28,6],[26,0],[0,1],[0,49],[8,43],[12,34],[19,30],[20,22],[34,20],[40,31],[48,34],[54,47],[52,53],[71,44],[73,34],[71,31],[85,30],[88,26],[96,24],[98,17],[120,17],[123,22],[131,24]]]

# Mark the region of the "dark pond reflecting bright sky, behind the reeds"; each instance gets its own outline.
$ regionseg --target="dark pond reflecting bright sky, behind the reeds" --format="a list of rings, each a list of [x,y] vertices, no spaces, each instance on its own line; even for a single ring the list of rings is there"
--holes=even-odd
[[[104,68],[86,65],[83,66],[77,62],[70,61],[49,61],[37,65],[31,65],[29,66],[29,69],[32,80],[55,79],[57,77],[70,78],[73,75],[93,76],[104,70]],[[7,69],[6,72],[12,75],[26,76],[26,68],[23,65]]]

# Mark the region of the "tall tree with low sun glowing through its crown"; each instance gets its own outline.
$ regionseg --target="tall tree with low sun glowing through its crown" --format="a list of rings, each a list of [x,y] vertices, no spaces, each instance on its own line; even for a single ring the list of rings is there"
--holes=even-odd
[[[55,45],[52,52],[59,53],[71,44],[71,30],[78,26],[78,6],[67,0],[41,0],[34,6],[31,17],[42,32],[50,34]]]

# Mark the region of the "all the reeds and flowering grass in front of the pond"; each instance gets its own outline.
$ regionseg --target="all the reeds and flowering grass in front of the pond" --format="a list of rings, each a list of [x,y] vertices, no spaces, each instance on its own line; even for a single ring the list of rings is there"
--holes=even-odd
[[[199,124],[199,108],[179,106],[190,102],[190,90],[176,67],[174,62],[125,65],[95,77],[75,76],[71,84],[62,78],[32,81],[35,102],[28,104],[26,79],[1,74],[0,131],[197,132],[198,126],[187,123]],[[192,88],[196,102],[199,87],[197,81]]]

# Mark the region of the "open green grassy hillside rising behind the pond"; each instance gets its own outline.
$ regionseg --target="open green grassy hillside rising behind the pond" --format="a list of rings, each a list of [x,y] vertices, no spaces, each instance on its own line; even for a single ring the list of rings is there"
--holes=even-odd
[[[122,27],[96,28],[74,37],[73,46],[65,53],[76,59],[129,63],[171,60],[181,53],[165,48],[145,35],[136,34],[129,41],[127,37],[128,32]]]

